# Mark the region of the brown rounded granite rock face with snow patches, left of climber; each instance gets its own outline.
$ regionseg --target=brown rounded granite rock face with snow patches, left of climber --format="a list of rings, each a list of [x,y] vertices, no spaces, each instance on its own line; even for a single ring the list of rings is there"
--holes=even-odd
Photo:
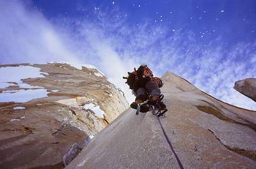
[[[124,93],[92,66],[10,64],[0,71],[21,67],[36,68],[41,76],[0,82],[0,168],[64,168],[129,106]],[[11,101],[25,92],[37,98]]]

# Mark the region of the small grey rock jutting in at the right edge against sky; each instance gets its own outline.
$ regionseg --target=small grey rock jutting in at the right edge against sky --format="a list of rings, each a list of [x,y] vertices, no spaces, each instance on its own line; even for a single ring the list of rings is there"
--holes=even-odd
[[[246,78],[235,82],[234,89],[244,96],[256,101],[256,78]]]

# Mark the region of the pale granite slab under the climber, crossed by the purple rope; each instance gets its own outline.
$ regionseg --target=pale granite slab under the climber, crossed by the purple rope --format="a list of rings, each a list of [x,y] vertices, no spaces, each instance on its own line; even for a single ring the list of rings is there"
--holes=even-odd
[[[256,168],[256,112],[228,105],[184,78],[163,76],[160,120],[184,168]],[[157,118],[125,110],[66,169],[179,168]]]

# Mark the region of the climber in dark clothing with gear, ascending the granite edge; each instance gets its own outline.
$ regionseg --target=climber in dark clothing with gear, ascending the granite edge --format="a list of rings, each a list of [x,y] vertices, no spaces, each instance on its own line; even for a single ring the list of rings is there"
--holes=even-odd
[[[156,105],[156,103],[159,103],[157,108],[162,110],[166,108],[163,102],[159,102],[159,96],[161,95],[159,87],[163,87],[164,82],[161,78],[154,77],[146,64],[141,64],[138,70],[134,68],[132,73],[128,72],[128,77],[123,78],[127,79],[126,83],[136,96],[135,101],[131,103],[131,108],[136,109],[138,104],[146,100],[148,100],[148,104],[141,105],[140,112],[148,112],[148,105]]]

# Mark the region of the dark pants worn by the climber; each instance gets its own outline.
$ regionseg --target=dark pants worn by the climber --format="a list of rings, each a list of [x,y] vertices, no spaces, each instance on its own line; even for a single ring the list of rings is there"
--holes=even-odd
[[[156,82],[149,80],[147,84],[145,84],[145,87],[140,87],[136,91],[136,99],[147,99],[147,96],[160,96],[161,91],[156,84]]]

